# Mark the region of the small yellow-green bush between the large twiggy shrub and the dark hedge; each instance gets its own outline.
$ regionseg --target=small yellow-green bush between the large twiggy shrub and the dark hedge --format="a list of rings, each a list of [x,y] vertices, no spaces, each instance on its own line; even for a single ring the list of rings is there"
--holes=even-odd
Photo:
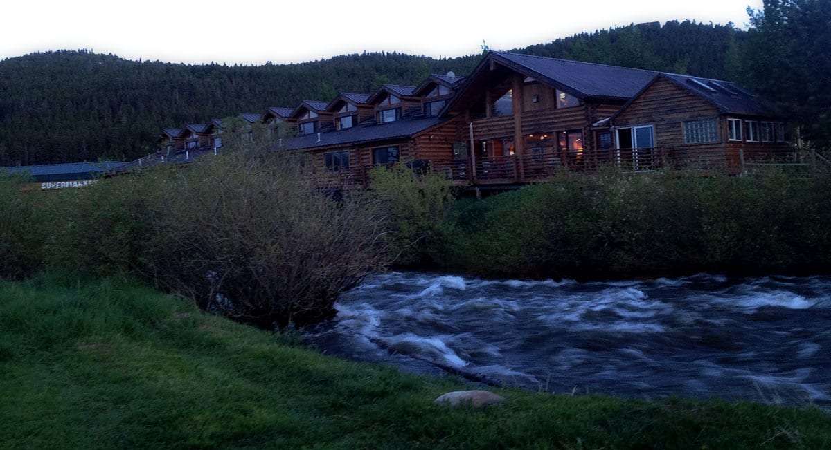
[[[371,172],[371,195],[388,214],[387,235],[396,264],[415,266],[437,258],[445,242],[441,227],[453,201],[441,174],[420,173],[405,164]]]

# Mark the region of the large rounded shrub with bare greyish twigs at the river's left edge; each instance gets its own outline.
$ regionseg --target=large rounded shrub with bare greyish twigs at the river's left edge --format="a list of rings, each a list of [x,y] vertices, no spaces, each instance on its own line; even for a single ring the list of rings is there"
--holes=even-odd
[[[208,310],[263,328],[327,318],[386,267],[369,198],[338,202],[285,155],[240,152],[180,170],[150,206],[143,274]]]

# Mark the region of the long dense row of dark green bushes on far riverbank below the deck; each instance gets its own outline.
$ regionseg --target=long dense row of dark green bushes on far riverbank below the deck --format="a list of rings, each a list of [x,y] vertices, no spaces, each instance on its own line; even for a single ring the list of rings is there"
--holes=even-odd
[[[831,179],[574,177],[460,203],[448,267],[489,276],[819,273]]]

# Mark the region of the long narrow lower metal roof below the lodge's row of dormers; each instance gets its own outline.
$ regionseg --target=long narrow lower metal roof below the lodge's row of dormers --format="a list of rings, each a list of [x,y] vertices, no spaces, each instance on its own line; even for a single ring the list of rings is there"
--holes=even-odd
[[[321,133],[320,140],[318,140],[317,133],[286,139],[282,145],[278,145],[275,149],[314,149],[331,145],[347,146],[379,140],[409,138],[420,131],[427,130],[442,122],[445,122],[445,119],[430,117],[396,120],[395,122],[382,125],[358,125],[348,130]]]

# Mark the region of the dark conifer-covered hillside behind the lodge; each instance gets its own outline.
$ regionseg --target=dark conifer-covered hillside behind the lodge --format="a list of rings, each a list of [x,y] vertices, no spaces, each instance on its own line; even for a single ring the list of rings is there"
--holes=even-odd
[[[735,79],[747,34],[732,24],[653,23],[514,51]],[[415,84],[430,72],[464,75],[477,61],[479,54],[437,60],[400,53],[263,66],[127,61],[88,51],[10,58],[0,61],[0,165],[135,159],[165,126],[328,100],[338,90]]]

